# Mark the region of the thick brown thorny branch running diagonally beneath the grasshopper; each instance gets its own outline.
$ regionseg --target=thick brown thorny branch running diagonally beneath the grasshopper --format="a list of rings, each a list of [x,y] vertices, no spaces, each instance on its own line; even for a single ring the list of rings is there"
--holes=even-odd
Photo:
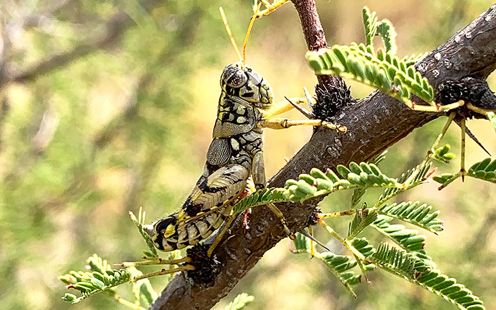
[[[312,30],[318,29],[316,24],[304,22],[309,20],[315,23],[318,20],[314,6],[313,11],[308,10],[313,0],[293,2],[301,16],[307,42],[323,38],[323,33]],[[309,18],[308,15],[314,17]],[[487,77],[495,68],[495,5],[417,64],[417,69],[434,88],[446,80],[459,80],[465,76]],[[366,161],[413,129],[441,116],[410,111],[404,104],[377,91],[343,114],[337,122],[348,127],[346,134],[318,130],[270,180],[269,186],[283,186],[287,179],[308,173],[312,167],[325,170],[350,161]],[[281,203],[278,207],[285,214],[290,229],[300,231],[307,225],[317,202],[317,199],[310,199],[303,204]],[[245,237],[238,218],[232,225],[231,233],[226,234],[226,238],[215,248],[214,253],[222,262],[222,269],[210,286],[191,284],[185,274],[178,274],[149,309],[210,309],[226,296],[265,251],[285,238],[279,222],[267,208],[255,208],[251,222],[254,225],[250,238]]]

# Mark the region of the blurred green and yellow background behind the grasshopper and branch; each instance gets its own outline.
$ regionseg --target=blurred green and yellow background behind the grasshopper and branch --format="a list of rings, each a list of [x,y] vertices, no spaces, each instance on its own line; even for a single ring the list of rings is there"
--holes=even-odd
[[[379,19],[395,25],[398,55],[431,51],[492,4],[395,3],[317,0],[329,45],[364,41],[361,9],[368,5]],[[242,44],[251,1],[0,2],[2,309],[126,309],[106,296],[71,306],[60,299],[65,289],[58,275],[83,269],[93,253],[115,263],[137,259],[146,247],[128,211],[136,213],[142,206],[148,221],[160,218],[176,210],[196,182],[211,140],[219,75],[225,64],[237,61],[220,5]],[[119,24],[126,20],[123,16],[131,22]],[[109,21],[116,35],[106,32]],[[76,52],[67,58],[53,59],[53,67],[29,71],[72,50]],[[271,83],[279,101],[302,96],[303,86],[313,90],[315,76],[305,52],[298,15],[292,4],[285,4],[255,22],[247,62]],[[489,82],[496,89],[494,75]],[[371,91],[350,85],[356,97]],[[394,145],[381,169],[394,176],[420,162],[443,122],[417,129]],[[468,126],[496,154],[489,123],[470,121]],[[311,128],[266,130],[267,176],[280,169],[310,133]],[[456,153],[459,135],[453,126],[444,140]],[[487,157],[473,142],[467,143],[468,164]],[[439,168],[455,172],[458,161]],[[495,187],[471,179],[440,192],[436,187],[420,186],[398,200],[421,200],[441,210],[445,230],[439,236],[422,232],[429,234],[427,253],[439,269],[485,301],[487,309],[496,309]],[[372,201],[373,194],[366,200]],[[328,197],[322,209],[345,209],[348,197]],[[347,229],[343,220],[332,225]],[[330,239],[319,229],[316,234],[324,242]],[[334,241],[328,245],[341,253]],[[359,298],[353,300],[322,264],[291,254],[281,242],[215,309],[223,309],[240,292],[255,296],[247,309],[455,309],[380,270],[370,279],[372,285],[355,287]],[[166,279],[151,281],[160,292]],[[120,293],[131,298],[128,291]]]

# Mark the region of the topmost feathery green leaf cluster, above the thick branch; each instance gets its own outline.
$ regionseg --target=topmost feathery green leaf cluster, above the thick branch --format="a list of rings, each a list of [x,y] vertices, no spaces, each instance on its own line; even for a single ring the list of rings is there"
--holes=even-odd
[[[413,107],[411,94],[434,106],[434,89],[414,64],[424,55],[399,59],[396,55],[393,25],[388,20],[377,24],[375,12],[363,9],[366,44],[351,43],[350,46],[334,45],[307,53],[307,61],[316,74],[331,74],[351,78],[377,88],[388,95]],[[381,37],[385,51],[374,51],[372,38],[375,33]]]

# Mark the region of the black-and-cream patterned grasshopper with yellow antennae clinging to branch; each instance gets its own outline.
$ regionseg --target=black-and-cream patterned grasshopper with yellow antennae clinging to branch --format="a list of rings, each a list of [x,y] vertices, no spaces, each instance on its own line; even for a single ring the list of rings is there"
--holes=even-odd
[[[225,14],[219,8],[240,61],[226,65],[220,76],[221,94],[217,118],[203,174],[177,212],[152,225],[143,226],[154,245],[162,251],[195,245],[210,236],[229,218],[222,235],[234,219],[230,215],[232,207],[247,188],[248,179],[252,178],[255,189],[265,187],[263,128],[283,129],[294,125],[311,125],[346,132],[345,126],[321,120],[273,118],[292,109],[293,103],[288,100],[289,102],[274,104],[270,84],[245,63],[246,45],[258,8],[248,26],[243,58]],[[285,233],[291,235],[282,213],[275,205],[268,206],[280,218]],[[209,249],[209,256],[219,240],[220,238],[216,239]]]

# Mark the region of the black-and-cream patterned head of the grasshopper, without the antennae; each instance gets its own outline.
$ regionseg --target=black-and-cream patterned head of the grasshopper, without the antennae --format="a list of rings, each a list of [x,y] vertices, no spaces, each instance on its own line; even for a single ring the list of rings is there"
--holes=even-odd
[[[220,86],[226,93],[240,97],[260,109],[272,106],[273,92],[270,84],[255,70],[242,62],[226,65],[220,76]]]

